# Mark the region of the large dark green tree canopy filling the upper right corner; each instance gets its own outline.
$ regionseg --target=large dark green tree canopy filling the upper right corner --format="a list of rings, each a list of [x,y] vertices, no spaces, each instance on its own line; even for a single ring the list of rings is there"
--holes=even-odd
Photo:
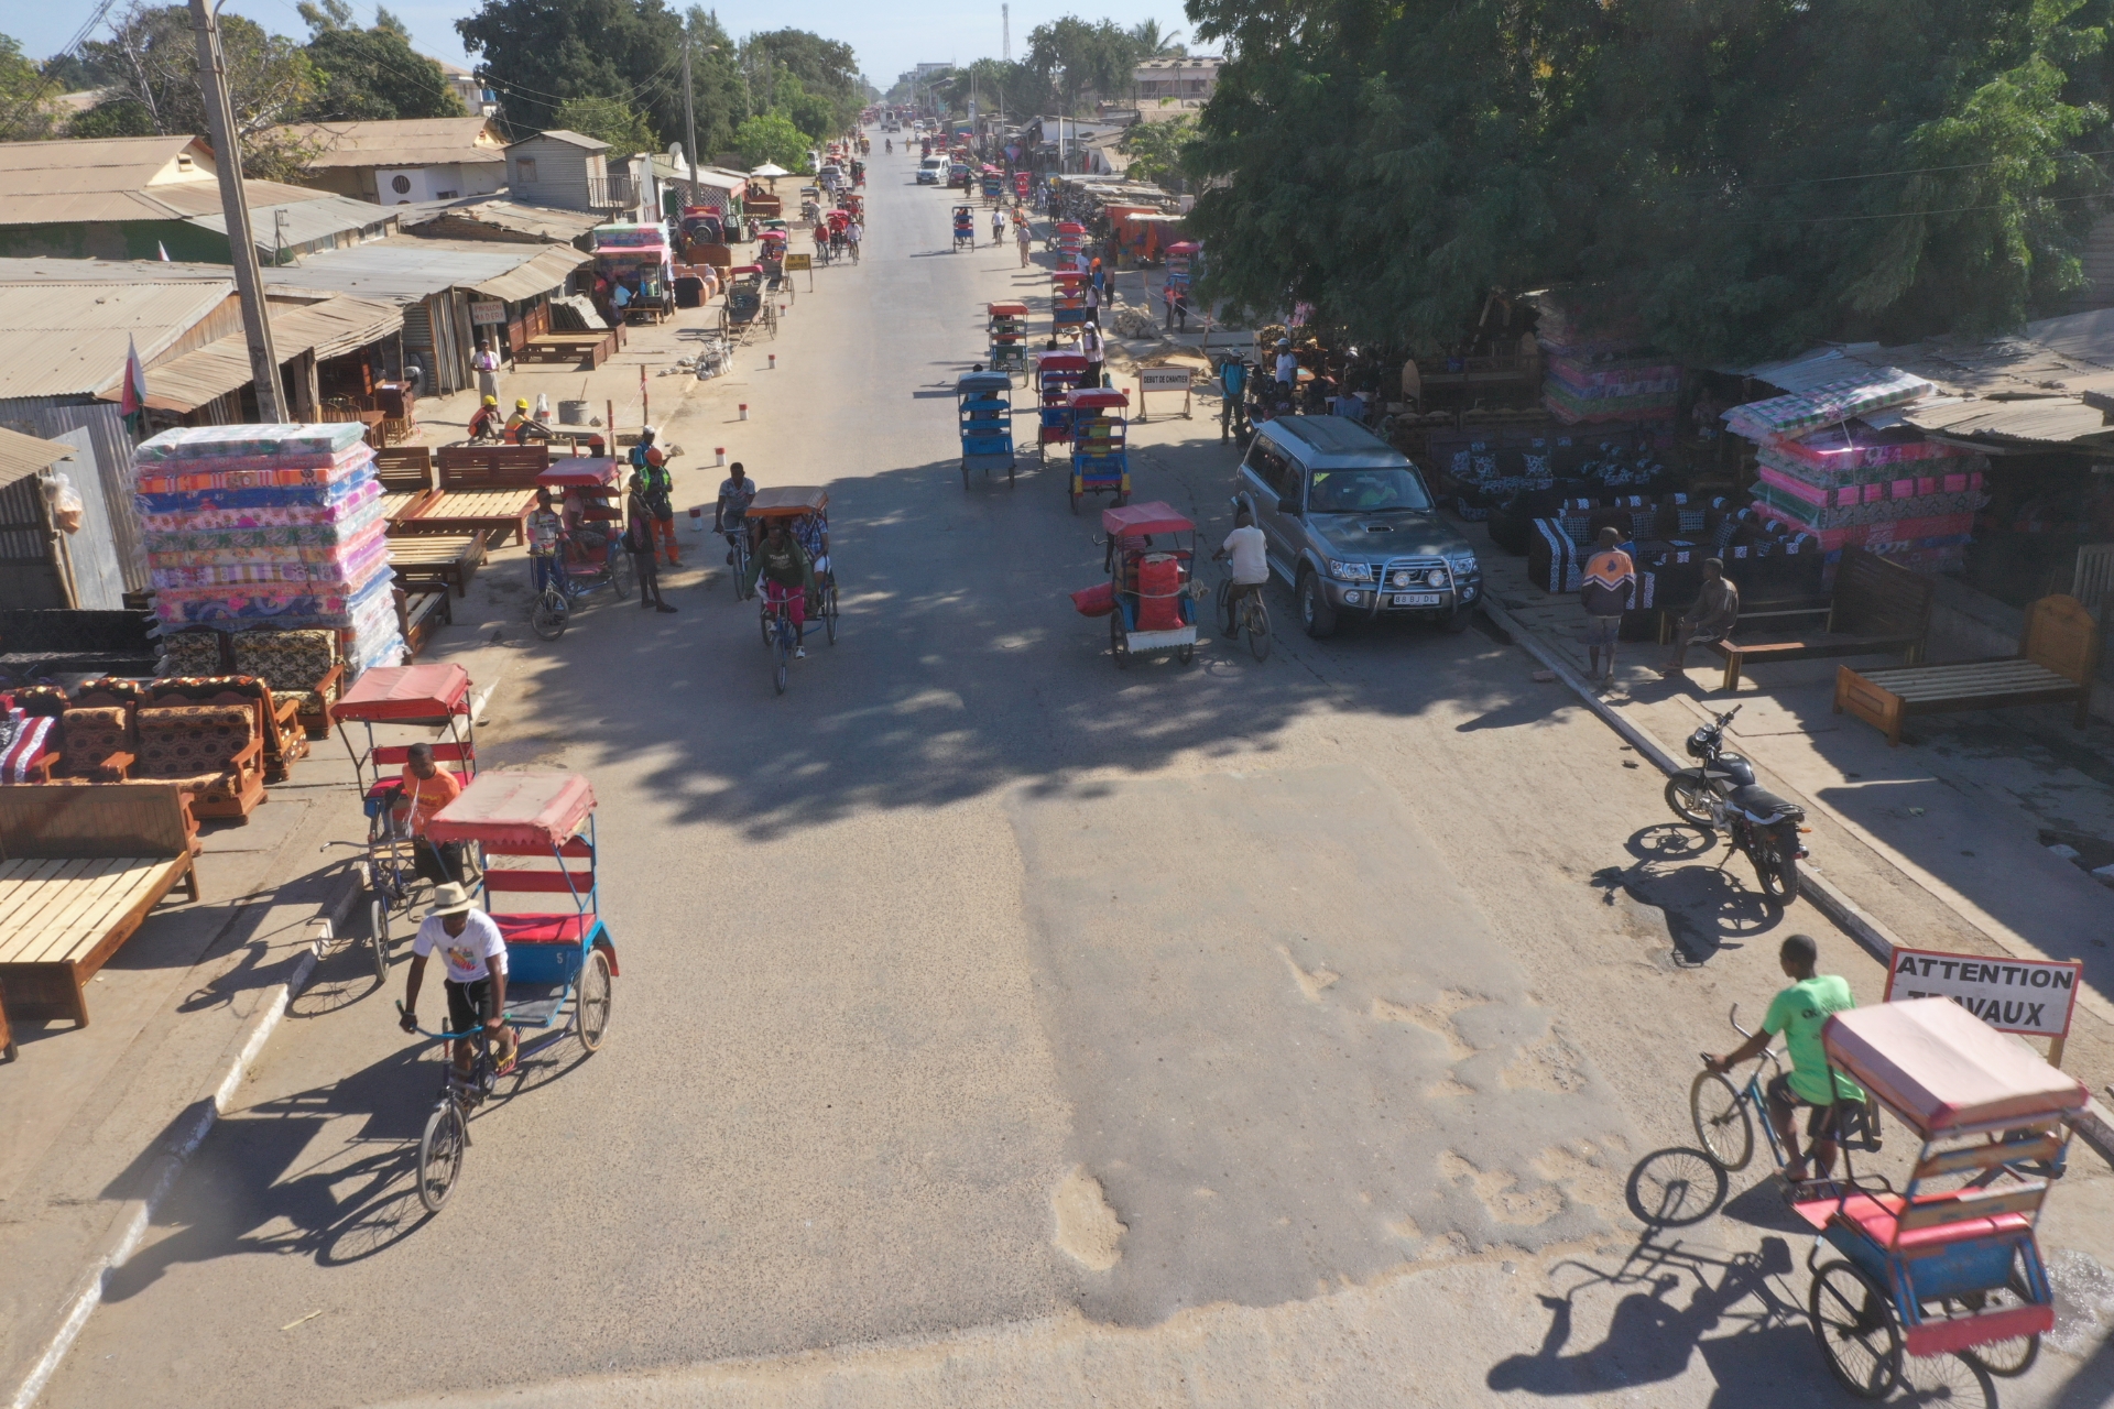
[[[1192,0],[1207,289],[1448,342],[1562,283],[1693,361],[1989,332],[2103,182],[2080,0]]]

